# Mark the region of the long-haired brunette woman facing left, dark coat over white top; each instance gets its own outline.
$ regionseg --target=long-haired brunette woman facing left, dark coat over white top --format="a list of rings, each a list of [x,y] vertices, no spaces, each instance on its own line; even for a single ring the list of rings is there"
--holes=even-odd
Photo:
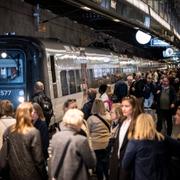
[[[119,122],[117,136],[114,140],[113,149],[111,152],[111,158],[118,159],[118,161],[114,160],[113,164],[112,160],[110,159],[112,162],[110,166],[110,179],[113,177],[113,180],[130,179],[130,171],[122,168],[122,159],[128,143],[128,133],[133,133],[136,118],[140,114],[140,106],[138,101],[136,97],[132,95],[126,96],[122,99],[121,109],[124,118]]]

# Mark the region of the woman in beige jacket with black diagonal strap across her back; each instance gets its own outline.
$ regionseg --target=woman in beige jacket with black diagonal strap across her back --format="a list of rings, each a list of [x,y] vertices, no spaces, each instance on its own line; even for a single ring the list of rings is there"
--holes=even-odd
[[[101,99],[95,99],[91,113],[92,115],[87,119],[87,124],[92,148],[97,158],[97,178],[98,180],[103,180],[104,176],[106,179],[108,178],[108,154],[106,147],[110,138],[111,117]]]

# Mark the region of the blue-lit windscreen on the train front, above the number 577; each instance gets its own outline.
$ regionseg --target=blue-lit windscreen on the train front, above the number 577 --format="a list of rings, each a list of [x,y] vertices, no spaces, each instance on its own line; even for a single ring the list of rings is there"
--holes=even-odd
[[[18,50],[9,50],[7,57],[0,57],[0,83],[23,83],[24,54]]]

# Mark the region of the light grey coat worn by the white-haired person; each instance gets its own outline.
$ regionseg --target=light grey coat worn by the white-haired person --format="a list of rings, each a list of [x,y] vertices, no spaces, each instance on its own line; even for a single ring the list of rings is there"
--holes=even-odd
[[[79,135],[72,128],[64,127],[62,131],[56,133],[50,142],[49,162],[51,177],[54,177],[63,149],[71,138],[71,142],[65,154],[65,158],[60,171],[58,180],[87,180],[89,178],[88,169],[96,167],[94,151],[90,149],[86,137]]]

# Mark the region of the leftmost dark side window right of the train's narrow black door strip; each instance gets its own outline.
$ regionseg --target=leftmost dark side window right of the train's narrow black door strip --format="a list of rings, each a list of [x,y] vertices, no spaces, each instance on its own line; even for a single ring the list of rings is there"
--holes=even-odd
[[[60,78],[61,78],[62,96],[66,96],[69,94],[66,70],[60,72]]]

